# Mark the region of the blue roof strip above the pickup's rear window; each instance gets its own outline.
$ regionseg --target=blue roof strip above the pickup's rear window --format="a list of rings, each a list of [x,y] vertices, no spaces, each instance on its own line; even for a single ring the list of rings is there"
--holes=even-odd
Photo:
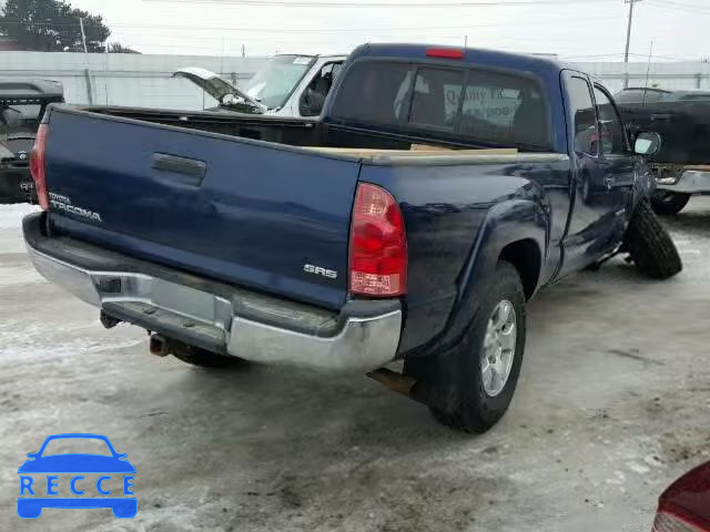
[[[463,52],[463,58],[452,59],[452,63],[465,64],[491,64],[500,68],[514,68],[515,70],[529,70],[538,73],[559,72],[566,66],[549,57],[528,55],[524,53],[500,52],[479,48],[463,48],[440,44],[405,44],[405,43],[367,43],[357,47],[351,54],[351,60],[361,57],[396,58],[426,60],[427,50],[457,50]]]

